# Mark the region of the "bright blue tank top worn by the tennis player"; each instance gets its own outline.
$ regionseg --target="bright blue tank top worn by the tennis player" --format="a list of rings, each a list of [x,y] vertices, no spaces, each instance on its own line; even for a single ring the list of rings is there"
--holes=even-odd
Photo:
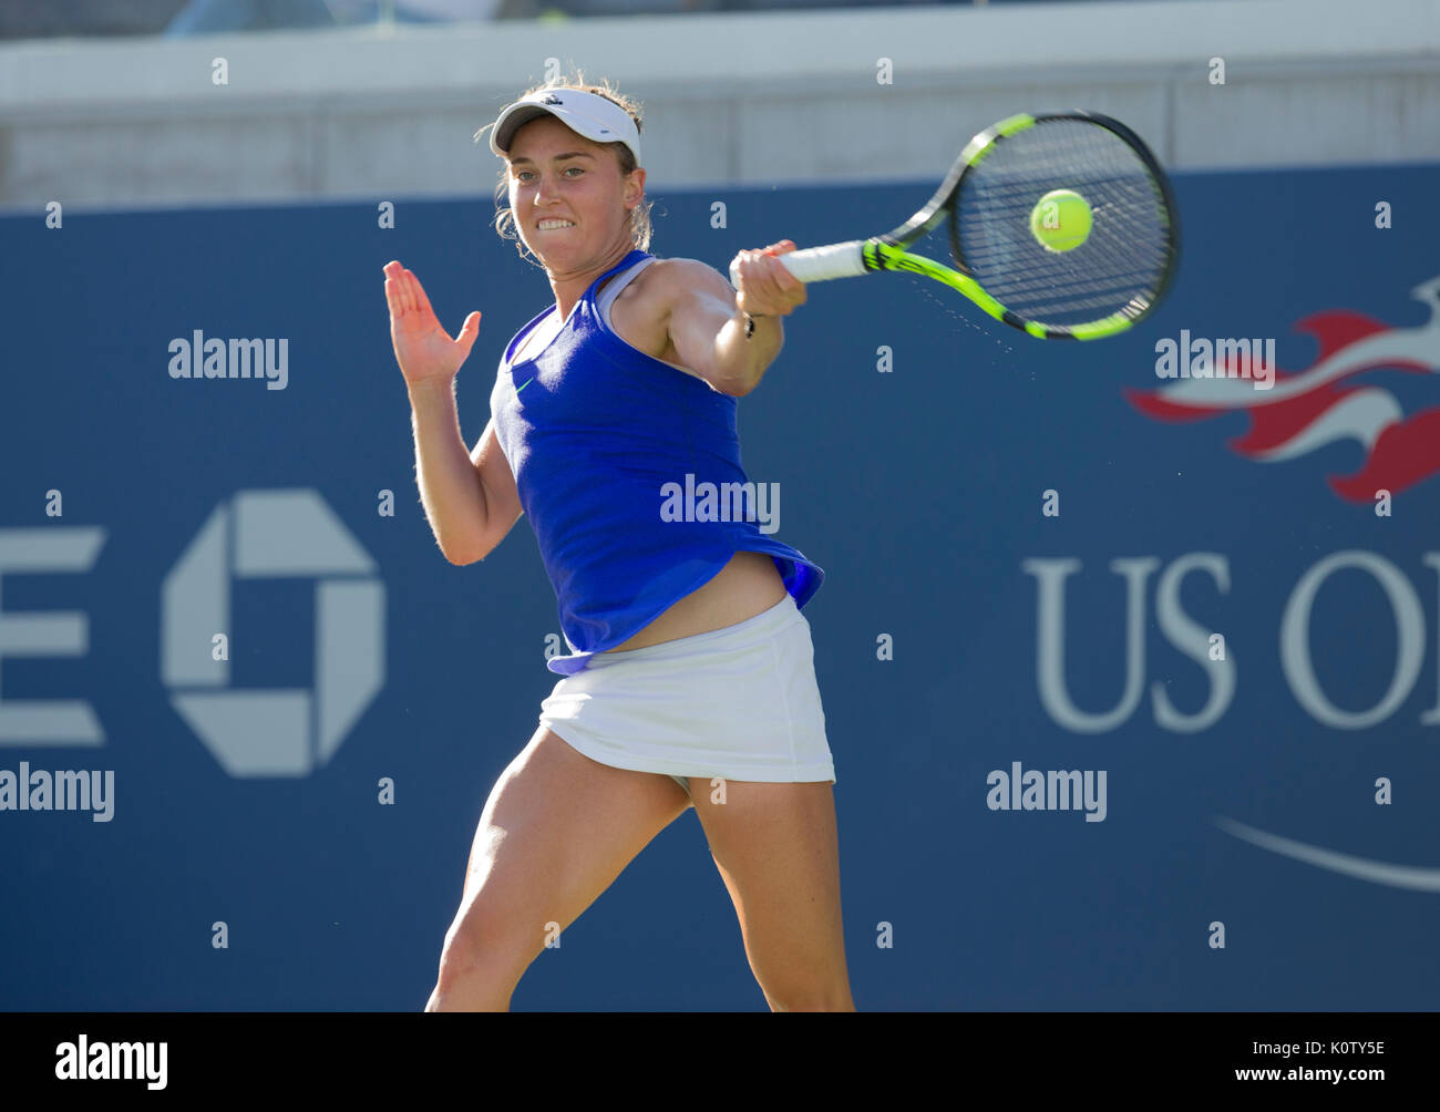
[[[769,555],[798,608],[825,578],[762,530],[778,498],[746,497],[775,488],[749,485],[736,399],[605,326],[599,285],[645,258],[632,251],[596,278],[533,357],[511,362],[556,307],[516,333],[490,395],[500,448],[560,605],[572,655],[546,664],[560,676],[628,641],[736,552]]]

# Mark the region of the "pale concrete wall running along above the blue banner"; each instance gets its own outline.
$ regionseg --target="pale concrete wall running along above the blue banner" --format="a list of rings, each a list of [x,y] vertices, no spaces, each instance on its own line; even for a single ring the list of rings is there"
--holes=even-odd
[[[645,102],[651,190],[935,177],[1066,107],[1172,169],[1440,160],[1440,0],[890,7],[6,45],[0,207],[488,194],[552,58]]]

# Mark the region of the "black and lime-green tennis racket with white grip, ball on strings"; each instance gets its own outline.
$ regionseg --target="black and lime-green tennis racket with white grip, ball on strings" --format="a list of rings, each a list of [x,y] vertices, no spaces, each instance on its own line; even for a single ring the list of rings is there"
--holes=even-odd
[[[950,269],[909,248],[949,216]],[[929,203],[888,235],[778,255],[802,282],[913,271],[1043,340],[1096,340],[1169,288],[1179,226],[1139,135],[1097,112],[1012,115],[979,133]],[[730,282],[739,288],[737,262]]]

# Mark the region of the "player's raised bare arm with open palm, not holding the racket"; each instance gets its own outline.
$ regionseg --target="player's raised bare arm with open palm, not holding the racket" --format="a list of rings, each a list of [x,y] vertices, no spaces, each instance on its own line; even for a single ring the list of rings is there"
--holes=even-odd
[[[390,262],[384,268],[390,340],[410,396],[415,475],[431,532],[451,563],[482,560],[520,519],[520,494],[500,451],[494,422],[474,452],[465,449],[455,406],[455,373],[480,334],[480,313],[454,340],[431,308],[419,279]]]

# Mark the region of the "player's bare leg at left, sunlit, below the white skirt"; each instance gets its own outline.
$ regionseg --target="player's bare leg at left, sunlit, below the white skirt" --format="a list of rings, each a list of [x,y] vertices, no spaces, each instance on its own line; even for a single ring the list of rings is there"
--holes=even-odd
[[[688,807],[670,776],[602,765],[540,726],[485,802],[425,1010],[508,1010],[546,938]]]

